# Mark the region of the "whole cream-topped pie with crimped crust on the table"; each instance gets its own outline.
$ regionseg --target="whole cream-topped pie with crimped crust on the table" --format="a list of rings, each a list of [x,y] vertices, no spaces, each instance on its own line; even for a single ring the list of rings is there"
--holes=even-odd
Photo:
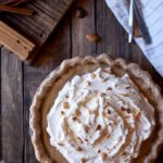
[[[163,99],[134,63],[74,58],[37,90],[30,128],[42,163],[149,163],[163,142]]]

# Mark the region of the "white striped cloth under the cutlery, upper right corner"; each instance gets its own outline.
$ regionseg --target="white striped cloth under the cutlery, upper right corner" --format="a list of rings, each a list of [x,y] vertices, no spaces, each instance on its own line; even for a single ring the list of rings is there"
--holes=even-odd
[[[105,0],[118,22],[128,32],[128,0]],[[152,43],[146,45],[142,38],[135,38],[151,64],[163,77],[163,0],[137,0]]]

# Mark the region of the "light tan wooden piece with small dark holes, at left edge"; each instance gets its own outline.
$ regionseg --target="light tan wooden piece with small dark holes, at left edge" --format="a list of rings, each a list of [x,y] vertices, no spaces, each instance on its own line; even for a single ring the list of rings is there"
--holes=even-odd
[[[15,53],[22,61],[25,61],[35,49],[35,43],[2,21],[0,21],[0,45]]]

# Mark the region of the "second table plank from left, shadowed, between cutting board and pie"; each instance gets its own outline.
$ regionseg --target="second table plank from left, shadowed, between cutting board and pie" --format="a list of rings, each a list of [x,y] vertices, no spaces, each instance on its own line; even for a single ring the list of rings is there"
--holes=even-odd
[[[67,14],[34,61],[37,66],[47,61],[49,63],[40,67],[24,65],[25,163],[36,162],[28,126],[29,105],[42,79],[64,59],[71,58],[70,38],[70,14]]]

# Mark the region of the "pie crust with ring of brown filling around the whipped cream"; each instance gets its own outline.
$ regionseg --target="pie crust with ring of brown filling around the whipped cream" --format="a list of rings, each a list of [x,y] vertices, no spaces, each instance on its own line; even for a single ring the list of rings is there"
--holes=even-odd
[[[156,126],[151,137],[146,140],[139,151],[139,156],[133,162],[153,162],[163,143],[163,97],[161,89],[153,83],[149,73],[135,63],[126,63],[123,59],[112,60],[108,54],[97,58],[73,58],[62,62],[38,88],[30,106],[29,126],[36,158],[42,163],[67,162],[54,147],[50,145],[47,133],[47,114],[51,109],[58,92],[74,75],[93,72],[98,67],[110,66],[113,74],[122,76],[127,73],[139,90],[148,98],[155,109]]]

